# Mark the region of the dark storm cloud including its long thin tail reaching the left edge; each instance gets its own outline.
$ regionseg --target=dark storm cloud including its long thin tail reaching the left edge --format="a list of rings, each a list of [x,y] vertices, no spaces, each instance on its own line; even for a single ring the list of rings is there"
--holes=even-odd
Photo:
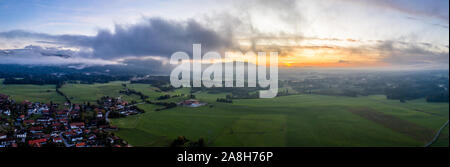
[[[49,35],[27,31],[1,32],[0,38],[36,39],[38,43],[61,44],[92,49],[91,57],[117,59],[136,56],[170,57],[172,53],[191,53],[192,45],[202,44],[202,51],[222,51],[232,45],[231,37],[216,32],[194,20],[176,22],[161,18],[143,23],[116,25],[114,32],[100,30],[96,36]]]

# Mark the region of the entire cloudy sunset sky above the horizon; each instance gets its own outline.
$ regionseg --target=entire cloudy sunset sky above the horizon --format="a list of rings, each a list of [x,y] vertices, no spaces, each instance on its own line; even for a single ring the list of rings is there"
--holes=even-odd
[[[0,64],[163,66],[201,43],[277,51],[286,68],[448,69],[448,13],[448,0],[0,0]]]

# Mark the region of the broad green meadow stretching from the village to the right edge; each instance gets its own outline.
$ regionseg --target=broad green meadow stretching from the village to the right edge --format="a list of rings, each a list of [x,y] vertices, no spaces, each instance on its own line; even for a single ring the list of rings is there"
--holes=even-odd
[[[428,134],[448,120],[449,108],[448,103],[400,103],[384,96],[293,95],[233,104],[215,102],[225,94],[196,96],[209,105],[160,112],[146,106],[145,114],[113,120],[120,128],[116,134],[133,146],[167,146],[177,136],[204,138],[208,146],[424,146],[432,137]],[[363,115],[350,112],[361,108]],[[381,121],[364,116],[366,110]],[[390,124],[383,118],[401,121]]]

